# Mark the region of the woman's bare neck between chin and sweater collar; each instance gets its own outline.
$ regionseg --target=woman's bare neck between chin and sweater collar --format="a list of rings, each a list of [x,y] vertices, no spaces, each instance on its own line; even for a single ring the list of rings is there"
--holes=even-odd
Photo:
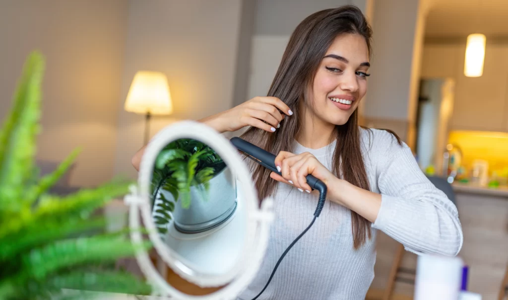
[[[303,106],[303,105],[302,105]],[[304,147],[311,149],[322,148],[332,142],[332,134],[335,131],[335,125],[325,122],[317,117],[307,107],[299,109],[298,117],[301,119],[300,131],[296,140]]]

